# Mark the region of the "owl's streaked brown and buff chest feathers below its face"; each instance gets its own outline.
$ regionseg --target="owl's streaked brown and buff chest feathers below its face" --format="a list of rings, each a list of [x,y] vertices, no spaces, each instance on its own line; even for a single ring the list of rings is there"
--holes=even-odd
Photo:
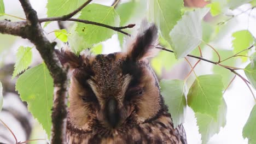
[[[151,122],[126,126],[127,129],[83,131],[67,127],[68,143],[182,143],[170,117],[160,116]],[[104,131],[104,132],[103,132]]]

